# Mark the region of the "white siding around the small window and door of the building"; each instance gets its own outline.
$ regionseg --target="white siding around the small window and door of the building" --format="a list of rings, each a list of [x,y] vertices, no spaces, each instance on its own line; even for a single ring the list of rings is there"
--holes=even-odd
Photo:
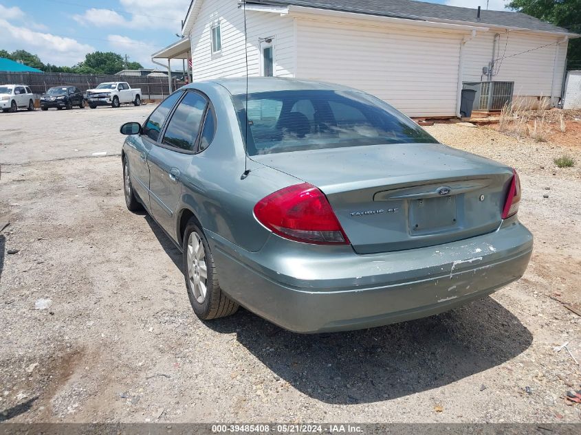
[[[220,23],[221,51],[212,55],[211,27]],[[294,76],[293,20],[280,14],[246,11],[248,75],[261,73],[259,45],[261,38],[274,37],[274,76]],[[244,14],[237,0],[204,0],[190,33],[194,80],[243,77],[246,74],[244,52]]]

